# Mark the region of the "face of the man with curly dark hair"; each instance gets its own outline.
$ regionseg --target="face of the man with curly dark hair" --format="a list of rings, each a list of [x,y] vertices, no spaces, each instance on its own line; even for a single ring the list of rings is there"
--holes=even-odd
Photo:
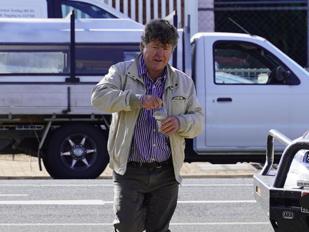
[[[147,71],[150,73],[162,72],[165,65],[171,59],[173,50],[172,44],[163,45],[160,40],[156,39],[143,45],[143,56]]]

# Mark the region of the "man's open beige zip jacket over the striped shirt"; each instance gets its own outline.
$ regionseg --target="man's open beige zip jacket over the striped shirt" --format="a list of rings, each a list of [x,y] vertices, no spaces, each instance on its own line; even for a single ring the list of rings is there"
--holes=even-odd
[[[140,56],[113,65],[91,94],[95,108],[112,113],[108,137],[109,167],[120,175],[124,175],[127,168],[133,132],[141,110],[140,99],[146,94],[143,78],[138,76]],[[169,140],[175,178],[181,183],[179,171],[184,162],[184,138],[193,138],[202,132],[205,116],[192,79],[168,64],[167,70],[162,100],[168,115],[176,116],[180,121],[179,131]]]

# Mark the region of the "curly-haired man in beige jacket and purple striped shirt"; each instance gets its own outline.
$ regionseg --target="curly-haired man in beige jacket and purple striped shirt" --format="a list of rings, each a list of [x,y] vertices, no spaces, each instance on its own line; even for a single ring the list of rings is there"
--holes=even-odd
[[[168,65],[179,36],[165,19],[151,20],[142,53],[120,62],[93,88],[92,105],[112,113],[108,137],[114,182],[114,232],[168,232],[178,197],[184,138],[204,128],[191,78]],[[158,134],[153,109],[168,117]]]

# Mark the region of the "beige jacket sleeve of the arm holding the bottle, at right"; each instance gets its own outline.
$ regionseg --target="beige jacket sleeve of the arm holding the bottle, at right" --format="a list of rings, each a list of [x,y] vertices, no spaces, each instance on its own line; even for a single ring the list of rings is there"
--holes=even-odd
[[[194,138],[204,129],[205,115],[198,102],[193,81],[189,89],[185,114],[181,114],[177,118],[180,122],[180,129],[177,133],[185,138]]]

